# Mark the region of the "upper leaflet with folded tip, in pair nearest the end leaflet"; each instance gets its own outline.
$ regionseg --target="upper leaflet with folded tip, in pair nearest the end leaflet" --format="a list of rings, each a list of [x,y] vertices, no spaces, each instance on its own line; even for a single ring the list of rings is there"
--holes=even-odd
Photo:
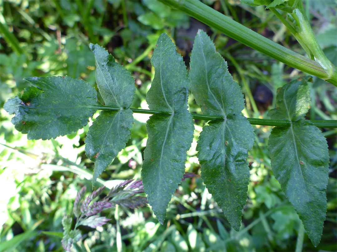
[[[95,54],[96,83],[105,105],[129,108],[135,93],[131,74],[99,45],[89,45]]]

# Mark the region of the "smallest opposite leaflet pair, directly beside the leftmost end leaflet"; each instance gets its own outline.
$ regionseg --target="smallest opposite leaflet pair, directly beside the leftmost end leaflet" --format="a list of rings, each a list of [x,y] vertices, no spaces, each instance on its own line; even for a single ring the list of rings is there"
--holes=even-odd
[[[93,186],[99,175],[117,154],[125,148],[133,124],[129,108],[135,93],[130,73],[115,62],[114,57],[99,45],[89,45],[95,55],[96,83],[104,102],[121,108],[119,111],[103,111],[89,128],[85,140],[88,158],[95,162]]]

